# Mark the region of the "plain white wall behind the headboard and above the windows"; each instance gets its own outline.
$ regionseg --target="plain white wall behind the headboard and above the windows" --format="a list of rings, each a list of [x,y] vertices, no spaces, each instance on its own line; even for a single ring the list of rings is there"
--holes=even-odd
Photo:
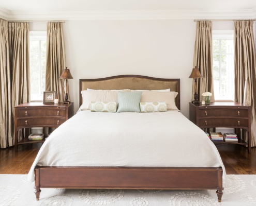
[[[193,20],[66,21],[64,37],[71,101],[79,108],[79,79],[114,75],[179,78],[181,111],[189,117],[192,97]],[[233,22],[213,22],[213,29],[233,29]],[[31,23],[46,30],[46,23]]]

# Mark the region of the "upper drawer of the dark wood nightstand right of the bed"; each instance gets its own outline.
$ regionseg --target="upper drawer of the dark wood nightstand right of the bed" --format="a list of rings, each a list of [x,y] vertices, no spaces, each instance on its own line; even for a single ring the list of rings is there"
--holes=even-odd
[[[210,116],[227,116],[227,117],[248,117],[247,109],[199,109],[198,112],[200,117],[210,117]]]

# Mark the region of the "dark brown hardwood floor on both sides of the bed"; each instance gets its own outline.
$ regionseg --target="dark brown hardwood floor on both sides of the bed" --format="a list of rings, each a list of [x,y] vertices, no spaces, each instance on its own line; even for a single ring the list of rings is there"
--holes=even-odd
[[[0,174],[27,174],[40,149],[41,143],[20,145],[19,152],[14,147],[0,149]],[[240,145],[217,145],[227,174],[256,175],[256,148],[251,154]]]

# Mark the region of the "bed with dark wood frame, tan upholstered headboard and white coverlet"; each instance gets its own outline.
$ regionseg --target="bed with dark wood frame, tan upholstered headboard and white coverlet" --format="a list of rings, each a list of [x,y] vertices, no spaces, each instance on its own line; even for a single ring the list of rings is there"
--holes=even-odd
[[[170,89],[171,91],[178,92],[176,98],[175,98],[175,105],[177,106],[177,109],[180,109],[180,85],[179,85],[179,79],[162,79],[162,78],[153,78],[153,77],[146,77],[146,76],[139,76],[139,75],[121,75],[121,76],[113,76],[108,78],[100,78],[100,79],[80,79],[80,106],[83,104],[82,100],[82,94],[81,91],[87,90],[87,88],[94,89],[94,90],[125,90],[125,89],[131,89],[131,90],[164,90],[164,89]],[[179,111],[168,111],[168,112],[160,112],[155,113],[112,113],[112,114],[106,114],[105,112],[90,112],[90,111],[80,111],[76,115],[74,115],[72,118],[70,118],[67,122],[65,122],[63,125],[59,126],[55,131],[63,132],[62,134],[58,134],[57,132],[53,132],[50,136],[50,138],[42,145],[40,151],[38,152],[38,156],[35,159],[35,162],[32,165],[31,170],[29,171],[29,174],[31,179],[35,180],[35,194],[36,199],[39,200],[39,195],[41,192],[41,188],[109,188],[109,189],[116,189],[116,188],[122,188],[122,189],[162,189],[162,190],[216,190],[218,201],[221,201],[221,197],[223,194],[223,186],[222,186],[222,178],[224,177],[225,171],[224,166],[221,161],[221,158],[219,156],[219,153],[214,146],[212,142],[207,140],[207,136],[203,136],[202,130],[199,129],[197,126],[193,125],[186,117],[184,117]],[[164,113],[164,114],[163,114]],[[101,116],[100,116],[101,115]],[[104,115],[104,116],[103,116]],[[107,116],[108,115],[108,116]],[[114,115],[118,115],[118,118],[112,118]],[[135,116],[134,116],[135,115]],[[111,142],[112,140],[108,140],[107,138],[100,139],[102,143],[100,142],[93,143],[92,139],[97,139],[97,135],[101,135],[101,133],[95,134],[93,132],[92,138],[88,138],[86,140],[81,139],[81,143],[78,142],[78,133],[80,131],[80,135],[84,135],[85,138],[87,138],[91,133],[86,133],[87,130],[83,130],[86,127],[93,128],[95,125],[97,126],[97,121],[95,119],[102,119],[102,121],[105,121],[104,123],[108,124],[119,124],[116,128],[122,128],[122,125],[120,125],[122,122],[122,119],[128,119],[133,118],[136,119],[135,121],[132,121],[132,127],[137,127],[140,125],[140,130],[138,131],[145,131],[141,132],[140,135],[143,136],[148,135],[147,141],[142,138],[138,138],[138,142],[136,145],[139,144],[147,144],[147,142],[154,141],[156,139],[156,136],[154,136],[154,132],[146,131],[146,127],[143,126],[143,124],[140,124],[136,121],[144,121],[145,115],[148,115],[146,119],[152,118],[152,115],[155,115],[158,121],[149,121],[147,124],[149,124],[148,128],[152,128],[154,126],[150,126],[150,124],[155,124],[156,122],[160,122],[159,125],[156,127],[161,128],[161,119],[164,115],[168,121],[170,121],[168,124],[174,125],[172,127],[167,127],[169,130],[168,132],[161,133],[162,129],[155,129],[154,131],[157,133],[161,133],[163,136],[163,141],[168,141],[168,136],[166,136],[166,133],[173,133],[173,136],[180,135],[179,133],[182,132],[182,130],[186,131],[186,129],[182,129],[182,124],[179,123],[179,125],[175,125],[177,122],[177,119],[184,119],[184,125],[188,125],[191,127],[191,133],[193,133],[192,130],[195,130],[200,133],[198,136],[202,137],[202,142],[198,144],[202,144],[203,146],[186,146],[187,141],[186,137],[179,138],[173,138],[175,141],[181,141],[175,142],[175,144],[169,144],[169,147],[172,149],[162,149],[161,147],[164,147],[168,144],[161,144],[159,148],[157,147],[150,147],[146,146],[145,148],[141,147],[139,150],[134,149],[134,145],[128,147],[128,149],[122,149],[122,151],[118,151],[118,156],[115,154],[115,152],[107,152],[106,149],[103,147],[110,147],[108,148],[108,151],[112,151],[113,147],[112,144],[108,144],[108,142]],[[130,116],[130,117],[129,117]],[[174,116],[173,118],[169,118],[170,116]],[[85,118],[84,118],[85,117]],[[81,123],[83,121],[83,118],[86,119],[84,123]],[[140,119],[141,118],[141,119]],[[109,123],[109,119],[113,119]],[[115,120],[114,120],[115,119]],[[74,122],[77,121],[77,122]],[[144,121],[145,122],[145,121]],[[186,123],[186,124],[185,124]],[[101,124],[101,123],[100,123]],[[127,121],[123,124],[127,125]],[[79,126],[80,125],[80,126]],[[84,125],[84,127],[83,127]],[[181,126],[180,126],[181,125]],[[77,129],[80,127],[80,129]],[[83,127],[83,129],[82,129]],[[97,126],[99,127],[99,126]],[[132,128],[131,127],[131,128]],[[173,129],[174,127],[178,127],[178,131]],[[68,128],[68,129],[67,129]],[[113,132],[113,129],[109,129],[109,126],[102,127],[104,129],[104,133],[106,134],[106,137],[112,138],[112,136],[115,136],[111,134]],[[125,128],[125,127],[124,127]],[[166,128],[166,127],[164,127]],[[181,128],[181,129],[180,129]],[[67,131],[65,130],[67,129]],[[144,130],[143,130],[144,129]],[[65,130],[65,131],[62,131]],[[78,131],[79,130],[79,131]],[[115,131],[115,130],[114,130]],[[121,129],[118,129],[119,133],[116,135],[121,136],[122,132]],[[131,129],[125,130],[125,133],[129,133],[132,131]],[[123,132],[124,133],[124,132]],[[87,137],[86,137],[86,135]],[[110,134],[110,135],[108,135]],[[130,138],[133,138],[133,133],[129,133]],[[64,150],[63,153],[62,141],[58,140],[60,135],[67,135],[67,138],[70,138],[70,136],[73,136],[74,144],[76,144],[76,150],[70,152],[69,150]],[[96,138],[95,138],[96,135]],[[186,134],[183,134],[183,136],[186,136]],[[53,137],[52,137],[53,136]],[[194,136],[194,140],[196,141],[197,135],[191,135]],[[164,139],[165,138],[165,139]],[[121,147],[124,146],[124,142],[126,139],[122,138],[112,138],[113,141],[118,142],[119,145],[115,146]],[[59,142],[58,142],[59,141]],[[66,144],[70,144],[71,139],[67,141]],[[83,142],[84,141],[84,142]],[[104,142],[105,141],[105,142]],[[141,142],[140,142],[141,141]],[[158,142],[163,142],[158,141]],[[191,140],[192,141],[192,140]],[[192,142],[195,142],[192,141]],[[64,141],[63,141],[64,142]],[[95,147],[97,147],[98,150],[104,151],[101,153],[101,155],[97,155],[98,153],[90,153],[95,152],[92,148],[88,147],[84,149],[84,145],[87,145],[87,143],[90,143],[88,145],[95,144]],[[57,144],[57,145],[56,145]],[[126,145],[129,145],[130,143],[126,143]],[[190,143],[189,143],[190,144]],[[191,143],[194,144],[194,143]],[[82,147],[80,145],[83,145]],[[174,146],[175,145],[175,146]],[[207,151],[203,149],[206,145],[209,145]],[[47,153],[50,150],[55,150],[56,147],[60,147],[59,151],[56,151],[52,156],[45,158],[44,156],[47,156]],[[94,147],[94,148],[95,148]],[[187,149],[186,147],[190,148]],[[112,148],[112,150],[111,150]],[[176,149],[178,148],[178,149]],[[132,150],[134,149],[134,150]],[[146,150],[147,149],[147,150]],[[176,149],[176,150],[175,150]],[[86,150],[86,152],[84,152]],[[137,157],[142,158],[134,158],[131,156],[127,159],[127,152],[129,150],[132,150],[132,154],[137,153]],[[150,152],[148,152],[150,151]],[[212,153],[207,153],[211,151]],[[118,153],[117,152],[117,153]],[[145,157],[145,152],[147,153],[148,157]],[[165,152],[165,153],[164,153]],[[172,153],[170,153],[172,152]],[[193,159],[193,156],[190,155],[190,152],[192,152],[194,155],[197,156],[197,158]],[[62,155],[61,155],[62,153]],[[108,157],[109,159],[104,159],[104,154],[111,153],[112,156]],[[157,154],[162,154],[162,156],[158,156]],[[191,153],[191,154],[192,154]],[[82,163],[77,163],[74,159],[76,157],[81,156]],[[91,154],[91,155],[90,155]],[[138,155],[140,154],[140,155]],[[183,165],[183,161],[178,161],[178,158],[180,157],[180,160],[183,158],[188,157],[191,158],[191,161],[187,161],[185,166]],[[85,158],[87,157],[87,159]],[[96,157],[97,156],[97,157]],[[168,157],[169,158],[168,158]],[[91,157],[91,159],[90,159]],[[94,157],[94,158],[92,158]],[[118,158],[122,157],[122,158]],[[74,158],[74,159],[73,159]],[[213,161],[211,160],[213,158]],[[42,160],[43,159],[43,160]],[[47,160],[45,160],[47,159]],[[86,160],[85,160],[86,159]],[[88,160],[89,159],[89,160]],[[93,159],[93,160],[92,160]],[[117,162],[114,162],[113,159],[118,159]],[[134,162],[134,159],[138,159],[138,162]],[[70,161],[71,160],[71,161]],[[124,161],[125,160],[125,161]],[[168,160],[163,163],[158,162],[160,160]],[[208,162],[207,162],[208,160]],[[211,161],[209,161],[211,160]],[[70,162],[68,162],[70,161]],[[137,160],[136,160],[137,161]],[[173,163],[172,163],[173,161]],[[66,162],[66,164],[65,164]],[[68,162],[68,163],[67,163]],[[79,162],[79,161],[78,161]],[[196,162],[194,164],[190,165],[190,162]]]

